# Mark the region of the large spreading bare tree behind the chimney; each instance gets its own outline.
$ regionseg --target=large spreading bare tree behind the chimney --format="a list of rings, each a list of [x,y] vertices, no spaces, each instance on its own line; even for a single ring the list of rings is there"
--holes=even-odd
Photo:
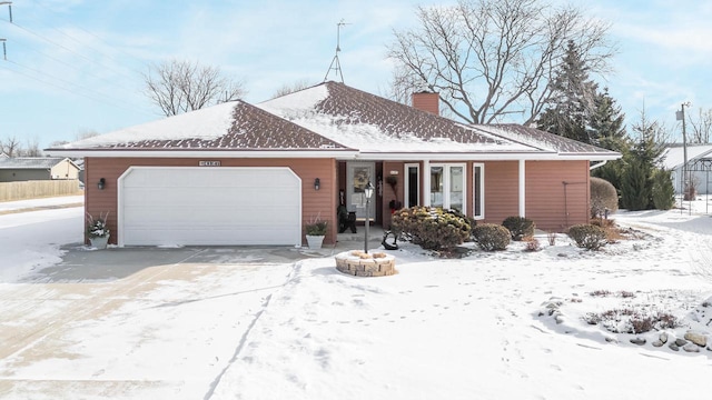
[[[572,41],[589,72],[607,70],[609,24],[538,0],[461,0],[417,9],[419,27],[396,31],[388,54],[471,123],[522,113],[528,124],[551,96]]]

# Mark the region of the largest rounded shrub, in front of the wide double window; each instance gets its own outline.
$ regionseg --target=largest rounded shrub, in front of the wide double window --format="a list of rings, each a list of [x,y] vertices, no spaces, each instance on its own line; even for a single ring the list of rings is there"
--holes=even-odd
[[[455,210],[416,206],[396,211],[390,230],[426,250],[452,250],[469,238],[472,227]]]

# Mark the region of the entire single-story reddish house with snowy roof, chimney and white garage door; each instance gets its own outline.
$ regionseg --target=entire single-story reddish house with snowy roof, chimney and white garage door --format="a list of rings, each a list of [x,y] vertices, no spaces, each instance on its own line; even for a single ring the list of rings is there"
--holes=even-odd
[[[300,246],[315,219],[329,222],[333,243],[339,203],[365,220],[369,180],[369,216],[386,228],[392,200],[478,222],[525,216],[553,231],[587,222],[591,162],[619,153],[515,124],[456,122],[435,114],[437,99],[414,94],[428,112],[325,82],[47,151],[85,158],[86,211],[109,212],[119,246]]]

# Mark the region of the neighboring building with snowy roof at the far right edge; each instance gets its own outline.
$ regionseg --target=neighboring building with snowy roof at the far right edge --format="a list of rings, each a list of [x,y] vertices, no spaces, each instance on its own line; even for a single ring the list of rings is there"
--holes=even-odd
[[[671,146],[661,156],[662,167],[672,171],[672,183],[675,194],[684,191],[682,167],[684,166],[684,148],[682,144]],[[712,144],[688,144],[688,176],[699,194],[712,192]]]

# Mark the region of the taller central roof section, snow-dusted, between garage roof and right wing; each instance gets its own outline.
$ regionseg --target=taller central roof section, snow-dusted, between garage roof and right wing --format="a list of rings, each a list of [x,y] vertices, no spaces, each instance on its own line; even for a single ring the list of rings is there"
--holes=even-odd
[[[537,150],[337,82],[326,82],[258,107],[362,153]]]

